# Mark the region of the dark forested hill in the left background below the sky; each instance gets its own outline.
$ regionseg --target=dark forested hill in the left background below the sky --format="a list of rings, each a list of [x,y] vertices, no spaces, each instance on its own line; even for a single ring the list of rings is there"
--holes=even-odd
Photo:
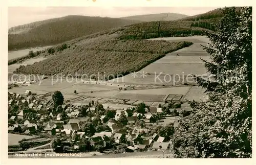
[[[45,20],[45,22],[39,21],[25,25],[25,27],[34,27],[26,33],[9,34],[8,50],[54,45],[135,22],[138,21],[75,15]]]

